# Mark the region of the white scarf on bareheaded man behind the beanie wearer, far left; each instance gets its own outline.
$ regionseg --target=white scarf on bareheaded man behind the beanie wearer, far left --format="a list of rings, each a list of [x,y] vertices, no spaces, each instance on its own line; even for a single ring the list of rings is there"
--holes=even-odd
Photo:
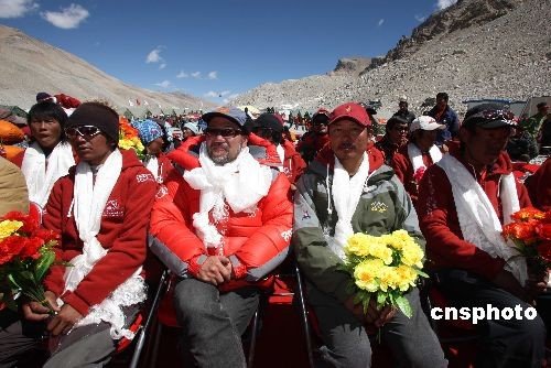
[[[67,142],[60,142],[47,159],[39,143],[34,142],[25,150],[21,171],[25,175],[29,201],[44,208],[54,183],[68,174],[75,165],[73,149]]]

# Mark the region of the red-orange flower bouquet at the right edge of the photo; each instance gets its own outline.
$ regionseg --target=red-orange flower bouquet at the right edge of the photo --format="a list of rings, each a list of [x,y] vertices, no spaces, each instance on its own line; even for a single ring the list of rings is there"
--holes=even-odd
[[[543,272],[551,267],[551,212],[533,207],[522,208],[504,226],[503,236],[510,239],[528,264]]]

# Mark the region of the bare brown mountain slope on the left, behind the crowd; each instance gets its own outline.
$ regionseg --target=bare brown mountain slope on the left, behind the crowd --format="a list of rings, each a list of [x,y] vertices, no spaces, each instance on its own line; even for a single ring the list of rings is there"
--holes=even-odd
[[[29,109],[39,91],[64,93],[80,100],[102,99],[119,110],[128,100],[148,101],[152,112],[212,102],[182,93],[158,93],[125,84],[85,61],[8,26],[0,25],[0,105]]]

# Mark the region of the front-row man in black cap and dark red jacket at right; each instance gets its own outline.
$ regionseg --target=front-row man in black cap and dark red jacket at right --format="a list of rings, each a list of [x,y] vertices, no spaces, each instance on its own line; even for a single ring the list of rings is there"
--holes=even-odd
[[[515,122],[496,104],[469,109],[460,130],[460,147],[451,147],[426,170],[420,184],[418,212],[428,257],[439,288],[456,309],[500,311],[530,307],[547,285],[547,272],[536,272],[505,242],[501,226],[530,206],[526,187],[511,173],[505,152]],[[480,340],[479,367],[540,367],[545,328],[534,318],[488,318],[475,325]]]

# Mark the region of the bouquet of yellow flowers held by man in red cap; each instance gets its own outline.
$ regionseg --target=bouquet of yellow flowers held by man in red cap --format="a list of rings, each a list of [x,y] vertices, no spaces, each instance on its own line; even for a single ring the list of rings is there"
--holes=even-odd
[[[406,230],[379,237],[354,234],[345,245],[343,270],[352,275],[349,291],[354,301],[367,312],[371,297],[381,309],[391,304],[412,316],[404,294],[415,286],[419,277],[428,278],[423,267],[423,250]]]

